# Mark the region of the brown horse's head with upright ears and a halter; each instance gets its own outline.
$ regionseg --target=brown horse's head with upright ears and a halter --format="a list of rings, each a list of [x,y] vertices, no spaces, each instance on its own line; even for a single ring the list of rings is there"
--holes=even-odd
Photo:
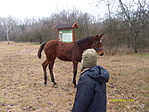
[[[104,55],[104,51],[103,51],[103,47],[102,47],[102,41],[101,41],[101,37],[103,36],[103,34],[101,34],[100,36],[96,35],[94,37],[94,42],[92,47],[98,52],[98,54],[100,56]]]

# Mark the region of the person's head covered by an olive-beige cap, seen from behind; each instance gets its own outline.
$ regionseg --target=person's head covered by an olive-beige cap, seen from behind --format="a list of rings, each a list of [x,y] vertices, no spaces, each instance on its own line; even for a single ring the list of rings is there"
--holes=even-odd
[[[87,49],[82,54],[80,69],[91,68],[97,65],[97,52],[94,49]]]

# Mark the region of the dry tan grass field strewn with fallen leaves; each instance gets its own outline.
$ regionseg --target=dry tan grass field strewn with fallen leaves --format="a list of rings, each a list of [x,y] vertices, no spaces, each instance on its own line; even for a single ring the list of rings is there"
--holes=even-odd
[[[37,58],[40,45],[0,42],[0,112],[70,112],[76,89],[72,63],[56,59],[57,87],[44,86]],[[107,112],[149,112],[149,54],[104,55],[98,64],[110,73]],[[79,74],[77,75],[77,80]]]

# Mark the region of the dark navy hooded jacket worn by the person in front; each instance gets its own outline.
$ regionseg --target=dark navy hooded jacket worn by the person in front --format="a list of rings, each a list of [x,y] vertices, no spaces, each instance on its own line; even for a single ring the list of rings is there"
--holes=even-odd
[[[108,71],[101,66],[85,70],[78,81],[72,112],[106,112],[108,80]]]

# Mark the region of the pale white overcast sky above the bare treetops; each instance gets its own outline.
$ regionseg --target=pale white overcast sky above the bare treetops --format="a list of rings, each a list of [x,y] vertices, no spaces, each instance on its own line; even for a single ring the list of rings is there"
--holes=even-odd
[[[0,0],[0,17],[42,18],[59,11],[77,9],[102,15],[106,7],[96,7],[98,0]]]

